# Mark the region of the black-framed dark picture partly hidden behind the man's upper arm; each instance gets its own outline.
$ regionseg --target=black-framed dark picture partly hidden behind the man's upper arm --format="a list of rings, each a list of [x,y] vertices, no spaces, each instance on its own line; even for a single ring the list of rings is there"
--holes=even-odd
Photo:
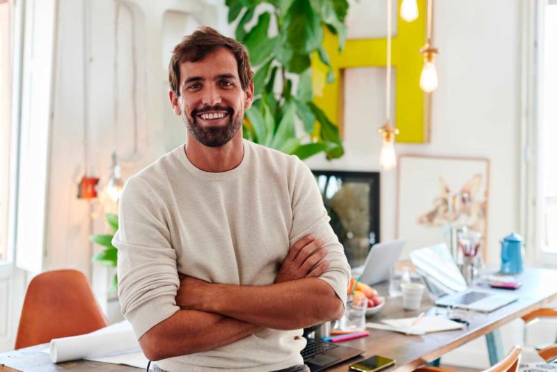
[[[379,242],[379,172],[312,170],[351,267],[363,265]]]

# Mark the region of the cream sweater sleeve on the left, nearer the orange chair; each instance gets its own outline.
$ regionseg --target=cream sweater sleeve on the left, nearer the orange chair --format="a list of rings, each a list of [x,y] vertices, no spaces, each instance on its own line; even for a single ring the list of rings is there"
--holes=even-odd
[[[180,284],[176,253],[165,211],[155,191],[138,177],[128,179],[119,205],[118,296],[122,312],[139,339],[151,327],[178,312]]]

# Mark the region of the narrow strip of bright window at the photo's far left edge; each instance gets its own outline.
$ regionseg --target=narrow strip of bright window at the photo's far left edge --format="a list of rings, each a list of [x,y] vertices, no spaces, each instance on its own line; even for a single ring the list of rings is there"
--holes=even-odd
[[[0,263],[8,255],[8,161],[10,159],[10,12],[0,0]]]

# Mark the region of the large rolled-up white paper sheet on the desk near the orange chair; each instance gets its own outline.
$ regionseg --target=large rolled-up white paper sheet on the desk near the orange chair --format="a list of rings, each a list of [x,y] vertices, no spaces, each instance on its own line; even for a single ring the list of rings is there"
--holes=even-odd
[[[50,348],[42,352],[49,353],[54,363],[88,359],[139,368],[145,368],[148,363],[128,321],[109,325],[88,334],[53,339],[50,341]]]

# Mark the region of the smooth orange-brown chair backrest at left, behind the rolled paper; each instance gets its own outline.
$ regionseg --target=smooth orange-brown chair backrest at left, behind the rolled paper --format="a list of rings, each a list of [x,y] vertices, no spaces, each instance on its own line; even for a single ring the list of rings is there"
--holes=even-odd
[[[49,271],[37,275],[29,283],[15,348],[86,334],[107,325],[83,273]]]

